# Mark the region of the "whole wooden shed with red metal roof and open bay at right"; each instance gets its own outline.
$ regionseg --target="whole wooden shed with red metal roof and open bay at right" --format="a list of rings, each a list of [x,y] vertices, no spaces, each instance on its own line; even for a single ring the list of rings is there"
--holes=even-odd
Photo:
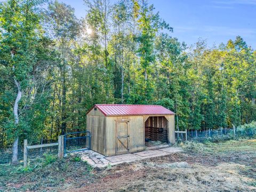
[[[174,113],[157,105],[94,105],[87,130],[91,149],[106,156],[145,150],[147,141],[175,143]]]

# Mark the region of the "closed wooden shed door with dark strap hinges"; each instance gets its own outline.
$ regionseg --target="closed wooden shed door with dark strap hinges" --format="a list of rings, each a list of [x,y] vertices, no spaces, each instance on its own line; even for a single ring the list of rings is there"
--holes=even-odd
[[[129,120],[116,121],[116,153],[129,152]]]

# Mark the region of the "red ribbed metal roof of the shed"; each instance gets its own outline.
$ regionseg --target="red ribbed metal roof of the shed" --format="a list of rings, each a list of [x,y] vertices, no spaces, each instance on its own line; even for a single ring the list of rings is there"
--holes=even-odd
[[[115,115],[174,115],[159,105],[95,105],[107,116]],[[95,107],[94,106],[94,107]]]

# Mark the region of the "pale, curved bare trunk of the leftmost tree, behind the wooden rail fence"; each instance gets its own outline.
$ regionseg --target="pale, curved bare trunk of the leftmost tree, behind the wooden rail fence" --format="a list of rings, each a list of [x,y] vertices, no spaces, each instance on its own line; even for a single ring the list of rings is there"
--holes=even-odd
[[[19,107],[19,101],[21,99],[22,91],[21,91],[20,83],[15,78],[14,78],[14,82],[17,86],[18,93],[13,106],[13,115],[14,115],[14,124],[18,125],[19,123],[18,107]],[[19,137],[17,136],[13,142],[12,164],[18,164],[18,143],[19,143]]]

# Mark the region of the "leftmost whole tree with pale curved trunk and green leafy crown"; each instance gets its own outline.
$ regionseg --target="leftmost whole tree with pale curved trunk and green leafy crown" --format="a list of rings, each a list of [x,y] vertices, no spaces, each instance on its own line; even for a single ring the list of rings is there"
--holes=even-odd
[[[37,64],[38,44],[43,35],[38,12],[41,4],[42,1],[9,0],[0,5],[1,65],[17,89],[13,104],[13,122],[9,122],[7,126],[13,138],[13,164],[18,162],[19,136],[23,129],[19,118],[19,103]]]

